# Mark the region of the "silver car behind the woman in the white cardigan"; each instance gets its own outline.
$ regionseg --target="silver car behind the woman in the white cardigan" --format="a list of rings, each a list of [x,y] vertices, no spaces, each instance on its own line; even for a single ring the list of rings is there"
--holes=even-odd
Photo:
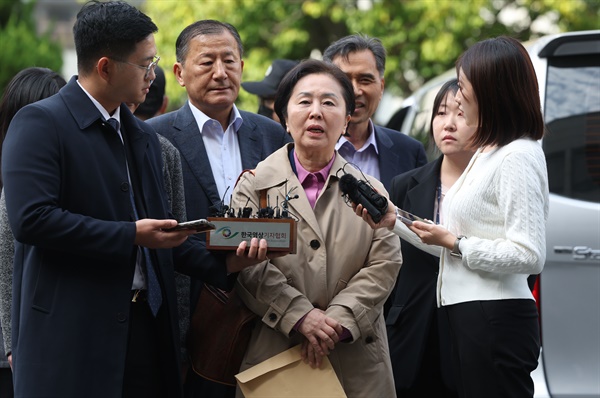
[[[532,286],[542,334],[535,397],[599,397],[600,30],[544,36],[525,46],[548,128],[542,145],[550,183],[546,265]],[[401,124],[392,126],[426,143],[432,158],[433,98],[454,76],[448,71],[407,98]]]

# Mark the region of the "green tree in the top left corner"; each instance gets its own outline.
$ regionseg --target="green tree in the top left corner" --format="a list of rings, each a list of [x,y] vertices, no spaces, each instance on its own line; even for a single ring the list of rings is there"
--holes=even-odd
[[[41,66],[60,71],[61,46],[45,35],[37,35],[34,2],[0,0],[0,93],[22,69]]]

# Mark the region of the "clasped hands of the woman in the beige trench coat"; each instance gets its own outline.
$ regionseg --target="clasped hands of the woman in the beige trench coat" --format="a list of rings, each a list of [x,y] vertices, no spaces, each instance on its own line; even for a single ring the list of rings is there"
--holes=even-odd
[[[329,355],[340,341],[343,328],[338,321],[315,308],[306,314],[298,331],[306,337],[302,343],[302,359],[311,367],[318,368],[323,357]]]

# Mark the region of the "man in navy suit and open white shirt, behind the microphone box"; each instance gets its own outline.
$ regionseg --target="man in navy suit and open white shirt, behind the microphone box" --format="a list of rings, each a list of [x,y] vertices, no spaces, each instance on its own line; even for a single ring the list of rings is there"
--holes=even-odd
[[[239,174],[291,138],[273,120],[234,105],[244,67],[235,27],[214,20],[189,25],[177,38],[176,57],[175,77],[188,102],[148,123],[181,153],[187,217],[192,220],[228,204]],[[192,280],[192,312],[203,282]],[[188,397],[235,395],[235,387],[208,382],[192,370],[185,389]]]

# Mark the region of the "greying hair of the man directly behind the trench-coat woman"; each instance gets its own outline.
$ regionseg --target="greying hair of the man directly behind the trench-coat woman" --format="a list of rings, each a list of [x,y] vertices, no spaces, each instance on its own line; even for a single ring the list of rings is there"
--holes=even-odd
[[[323,61],[332,63],[334,58],[341,56],[348,61],[348,56],[357,51],[369,50],[375,57],[375,65],[379,71],[380,77],[385,74],[385,48],[381,44],[381,40],[376,37],[369,37],[357,33],[342,37],[341,39],[331,43],[323,53]]]

